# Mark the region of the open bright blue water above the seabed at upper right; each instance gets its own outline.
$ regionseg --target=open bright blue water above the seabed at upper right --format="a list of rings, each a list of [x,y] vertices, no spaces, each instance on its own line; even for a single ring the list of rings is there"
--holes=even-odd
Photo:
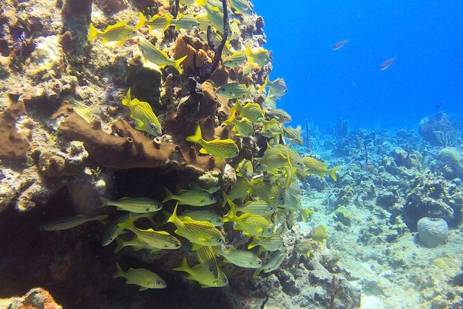
[[[271,80],[287,82],[278,107],[294,125],[344,118],[349,127],[411,128],[439,102],[463,114],[463,1],[253,3],[266,21]],[[341,39],[349,42],[333,51]]]

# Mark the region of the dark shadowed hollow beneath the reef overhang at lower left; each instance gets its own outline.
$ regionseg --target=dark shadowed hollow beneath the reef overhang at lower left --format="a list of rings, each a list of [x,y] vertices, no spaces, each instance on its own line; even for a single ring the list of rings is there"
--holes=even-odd
[[[125,189],[118,192],[118,188],[123,187],[122,183],[138,178],[139,173],[139,170],[132,170],[116,174],[115,195],[132,193]],[[169,182],[163,186],[153,185],[151,182],[145,185],[134,183],[132,188],[135,190],[138,186],[136,193],[143,194],[151,188],[161,190],[165,185],[169,186]],[[75,208],[69,191],[62,188],[48,204],[31,211],[20,213],[10,206],[0,213],[0,298],[22,295],[30,288],[42,287],[51,292],[63,308],[235,307],[230,299],[234,294],[232,284],[226,288],[202,289],[187,281],[185,274],[172,272],[172,265],[180,265],[183,251],[166,252],[161,260],[145,263],[123,254],[127,251],[114,254],[115,244],[102,247],[106,226],[100,222],[87,222],[58,232],[39,229],[44,222],[76,215]],[[117,215],[118,211],[111,209],[109,213]],[[125,271],[129,267],[153,270],[165,280],[167,288],[139,292],[138,286],[125,284],[125,279],[113,279],[116,261]]]

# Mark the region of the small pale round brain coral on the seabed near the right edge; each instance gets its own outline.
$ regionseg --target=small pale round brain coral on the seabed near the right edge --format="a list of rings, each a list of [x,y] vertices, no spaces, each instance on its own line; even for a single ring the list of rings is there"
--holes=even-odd
[[[441,218],[424,217],[418,221],[419,240],[430,247],[437,247],[447,241],[447,222]]]

